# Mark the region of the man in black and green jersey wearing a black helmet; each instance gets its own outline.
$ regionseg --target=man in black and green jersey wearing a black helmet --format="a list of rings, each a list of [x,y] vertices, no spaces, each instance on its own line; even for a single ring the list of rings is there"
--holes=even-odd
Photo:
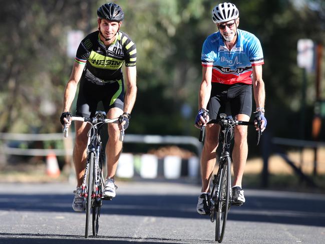
[[[96,113],[98,102],[102,101],[107,118],[120,117],[121,125],[108,124],[109,139],[106,145],[107,179],[104,197],[115,197],[115,172],[122,151],[119,141],[122,125],[129,125],[130,113],[135,103],[136,87],[136,45],[130,37],[120,31],[124,12],[121,7],[109,3],[97,10],[98,31],[89,34],[79,45],[71,77],[64,92],[63,113],[60,121],[69,127],[71,104],[80,81],[76,115],[92,117]],[[124,80],[122,66],[125,63],[126,93],[124,98]],[[77,190],[72,207],[75,211],[85,209],[85,199],[81,196],[81,184],[85,171],[87,133],[86,122],[75,122],[76,143],[74,146],[74,164],[77,175]],[[109,148],[109,150],[108,150]]]

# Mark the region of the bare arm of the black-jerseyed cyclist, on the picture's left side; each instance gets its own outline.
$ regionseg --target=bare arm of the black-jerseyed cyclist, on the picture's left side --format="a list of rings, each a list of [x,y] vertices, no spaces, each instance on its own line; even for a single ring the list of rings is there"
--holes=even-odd
[[[80,81],[81,75],[83,73],[85,65],[79,64],[77,62],[74,63],[72,68],[71,76],[69,81],[67,82],[64,98],[63,98],[63,112],[69,112],[71,108],[71,104],[75,98],[77,86]]]

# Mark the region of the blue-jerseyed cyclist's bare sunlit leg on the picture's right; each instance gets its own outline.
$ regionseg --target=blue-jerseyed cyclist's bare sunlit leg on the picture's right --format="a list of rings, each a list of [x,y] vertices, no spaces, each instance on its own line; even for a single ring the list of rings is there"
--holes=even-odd
[[[239,114],[238,120],[248,121],[249,116]],[[238,125],[235,127],[235,143],[232,151],[234,181],[233,186],[241,187],[242,176],[244,174],[248,154],[247,146],[247,126]]]

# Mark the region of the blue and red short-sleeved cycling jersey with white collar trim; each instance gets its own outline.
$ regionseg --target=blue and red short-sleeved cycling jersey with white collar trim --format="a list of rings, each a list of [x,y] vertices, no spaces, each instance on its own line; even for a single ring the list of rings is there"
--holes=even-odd
[[[229,51],[220,32],[208,36],[203,43],[202,66],[212,67],[212,82],[252,84],[252,66],[264,64],[263,51],[257,37],[237,30],[237,42]]]

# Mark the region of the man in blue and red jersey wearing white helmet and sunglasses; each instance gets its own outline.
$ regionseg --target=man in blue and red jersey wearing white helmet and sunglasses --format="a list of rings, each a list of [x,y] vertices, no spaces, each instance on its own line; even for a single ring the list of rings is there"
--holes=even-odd
[[[202,82],[199,111],[195,119],[196,127],[206,127],[201,156],[202,189],[197,204],[197,212],[200,214],[209,214],[209,184],[215,166],[215,151],[218,146],[216,138],[220,131],[220,125],[208,122],[216,120],[226,110],[230,110],[237,120],[248,121],[252,112],[253,89],[256,111],[262,112],[261,131],[266,127],[262,80],[264,61],[259,40],[253,34],[238,29],[239,12],[231,3],[215,6],[212,20],[218,32],[208,36],[202,47]],[[207,116],[203,117],[205,112]],[[247,151],[247,126],[236,126],[232,152],[232,201],[235,204],[245,202],[242,175]]]

